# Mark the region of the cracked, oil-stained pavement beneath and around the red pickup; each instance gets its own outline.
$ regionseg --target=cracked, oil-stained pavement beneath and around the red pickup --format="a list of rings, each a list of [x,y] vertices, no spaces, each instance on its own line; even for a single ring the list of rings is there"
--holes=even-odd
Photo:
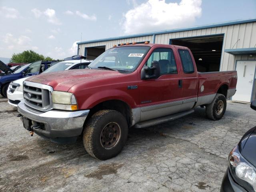
[[[31,137],[16,115],[0,98],[0,191],[218,192],[230,150],[256,125],[248,104],[228,102],[219,121],[196,108],[179,120],[131,128],[122,152],[101,161],[81,138],[60,145]]]

